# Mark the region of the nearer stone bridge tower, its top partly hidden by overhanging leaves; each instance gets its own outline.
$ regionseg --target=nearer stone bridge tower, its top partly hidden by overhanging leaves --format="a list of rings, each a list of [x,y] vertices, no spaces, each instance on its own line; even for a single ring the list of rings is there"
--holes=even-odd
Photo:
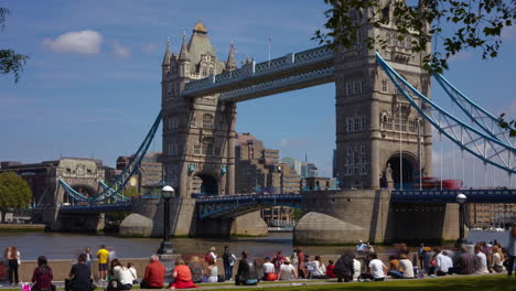
[[[390,2],[383,2],[384,11],[393,15]],[[393,23],[364,29],[356,45],[340,50],[335,60],[335,107],[336,162],[342,188],[393,187],[400,180],[404,184],[413,183],[420,166],[424,176],[432,174],[430,123],[398,93],[376,63],[375,51],[364,42],[379,35],[387,43],[385,50],[376,50],[412,86],[430,97],[430,75],[422,68],[427,52],[411,53],[411,39],[399,41]]]

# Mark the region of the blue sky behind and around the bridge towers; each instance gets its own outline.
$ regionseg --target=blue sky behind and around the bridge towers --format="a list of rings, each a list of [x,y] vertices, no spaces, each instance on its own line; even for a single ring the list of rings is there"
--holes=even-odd
[[[158,114],[168,36],[178,52],[183,31],[190,35],[202,19],[219,58],[226,60],[233,40],[238,64],[246,55],[265,61],[268,35],[272,57],[316,46],[310,39],[326,9],[318,0],[192,3],[4,1],[11,15],[0,33],[1,47],[31,60],[18,84],[12,76],[0,77],[0,161],[39,162],[62,154],[114,165],[118,155],[136,151]],[[78,36],[86,41],[77,44]],[[447,77],[493,112],[514,117],[513,52],[514,29],[504,33],[497,60],[462,53]],[[322,175],[330,175],[334,90],[329,84],[238,104],[237,131],[251,132],[282,157],[304,159],[307,153]],[[151,150],[161,150],[160,137]]]

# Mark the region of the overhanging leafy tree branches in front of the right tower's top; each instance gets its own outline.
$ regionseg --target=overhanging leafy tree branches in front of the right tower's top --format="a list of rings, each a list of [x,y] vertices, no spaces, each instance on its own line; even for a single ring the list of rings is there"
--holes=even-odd
[[[313,39],[320,44],[351,48],[365,42],[369,48],[386,48],[385,34],[367,34],[368,28],[391,25],[395,42],[408,42],[412,53],[426,53],[424,68],[442,73],[448,60],[473,50],[482,58],[495,58],[502,44],[502,32],[516,20],[516,0],[324,0],[331,8],[324,12],[325,31]],[[432,44],[432,46],[430,46]],[[499,117],[499,126],[516,137],[516,121]]]

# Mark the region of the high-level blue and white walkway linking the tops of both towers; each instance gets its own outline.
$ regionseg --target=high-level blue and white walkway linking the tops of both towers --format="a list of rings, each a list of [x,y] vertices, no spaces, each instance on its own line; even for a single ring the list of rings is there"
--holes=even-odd
[[[333,82],[335,52],[320,46],[300,53],[256,64],[254,61],[239,69],[192,80],[183,96],[198,97],[225,93],[219,100],[249,99],[266,96],[286,87],[305,87],[310,83]]]

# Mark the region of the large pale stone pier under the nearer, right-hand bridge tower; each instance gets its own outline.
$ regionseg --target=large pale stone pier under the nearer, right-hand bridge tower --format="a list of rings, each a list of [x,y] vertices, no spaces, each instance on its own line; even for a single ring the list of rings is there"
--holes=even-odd
[[[389,191],[355,190],[303,194],[307,213],[294,228],[297,245],[420,242],[459,237],[455,204],[399,204]]]

